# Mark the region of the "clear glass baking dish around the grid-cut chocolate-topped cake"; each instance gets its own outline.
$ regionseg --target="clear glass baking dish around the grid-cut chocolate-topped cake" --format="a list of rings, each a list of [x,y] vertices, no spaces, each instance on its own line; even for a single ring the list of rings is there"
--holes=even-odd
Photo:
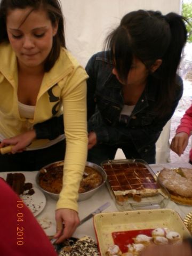
[[[101,167],[105,170],[104,165],[121,165],[121,164],[143,164],[148,169],[150,174],[153,176],[155,181],[157,181],[157,177],[153,170],[151,170],[150,166],[143,161],[142,159],[120,159],[120,160],[108,160],[101,163]],[[106,170],[105,170],[106,171]],[[141,170],[142,171],[142,170]],[[107,172],[107,171],[106,171]],[[113,189],[111,189],[111,186],[109,184],[109,181],[107,180],[106,185],[109,190],[109,193],[111,197],[113,198],[116,207],[119,211],[129,211],[129,210],[144,210],[144,209],[161,209],[165,208],[167,203],[170,201],[170,194],[167,191],[167,189],[162,185],[161,182],[158,182],[159,185],[159,193],[155,196],[149,196],[149,197],[143,197],[141,199],[141,202],[136,202],[133,200],[133,198],[129,198],[125,202],[121,202],[114,194]]]

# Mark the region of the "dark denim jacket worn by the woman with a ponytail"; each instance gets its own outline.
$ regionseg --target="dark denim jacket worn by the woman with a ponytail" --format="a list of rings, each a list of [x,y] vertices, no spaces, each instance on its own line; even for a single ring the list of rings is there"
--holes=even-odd
[[[182,79],[177,76],[177,97],[169,115],[159,118],[155,113],[158,88],[151,84],[150,77],[145,90],[135,105],[130,117],[119,122],[124,106],[122,84],[112,74],[113,64],[108,61],[106,52],[94,54],[86,65],[87,118],[88,130],[97,134],[98,143],[126,145],[133,143],[144,157],[148,151],[155,155],[155,143],[163,126],[171,118],[182,96]]]

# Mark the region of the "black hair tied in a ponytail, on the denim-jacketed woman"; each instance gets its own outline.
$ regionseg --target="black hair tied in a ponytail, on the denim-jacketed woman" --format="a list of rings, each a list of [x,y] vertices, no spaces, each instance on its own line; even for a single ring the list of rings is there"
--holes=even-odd
[[[158,86],[159,116],[169,113],[177,90],[175,76],[187,40],[185,21],[186,18],[173,12],[162,15],[159,11],[133,11],[106,38],[108,57],[121,79],[127,78],[133,57],[145,64]],[[151,73],[157,59],[162,59],[162,65]]]

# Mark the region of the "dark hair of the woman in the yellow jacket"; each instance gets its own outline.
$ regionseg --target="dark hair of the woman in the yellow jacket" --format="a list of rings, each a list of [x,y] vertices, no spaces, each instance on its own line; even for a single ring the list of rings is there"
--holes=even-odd
[[[64,21],[61,4],[58,0],[2,0],[0,4],[0,43],[9,41],[6,31],[7,12],[14,9],[25,9],[26,7],[31,7],[31,11],[39,9],[46,11],[52,25],[55,25],[55,23],[58,22],[58,31],[53,37],[51,52],[44,64],[44,71],[49,71],[58,59],[61,47],[66,48]]]

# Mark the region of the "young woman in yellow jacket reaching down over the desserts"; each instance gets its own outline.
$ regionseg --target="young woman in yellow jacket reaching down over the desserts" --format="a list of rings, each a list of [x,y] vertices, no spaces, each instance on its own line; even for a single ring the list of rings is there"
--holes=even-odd
[[[55,215],[59,243],[79,223],[78,187],[87,156],[87,75],[66,50],[58,0],[2,0],[0,24],[0,141],[33,133],[36,123],[63,113],[65,138],[34,140],[20,154],[0,155],[1,171],[39,170],[65,157]]]

